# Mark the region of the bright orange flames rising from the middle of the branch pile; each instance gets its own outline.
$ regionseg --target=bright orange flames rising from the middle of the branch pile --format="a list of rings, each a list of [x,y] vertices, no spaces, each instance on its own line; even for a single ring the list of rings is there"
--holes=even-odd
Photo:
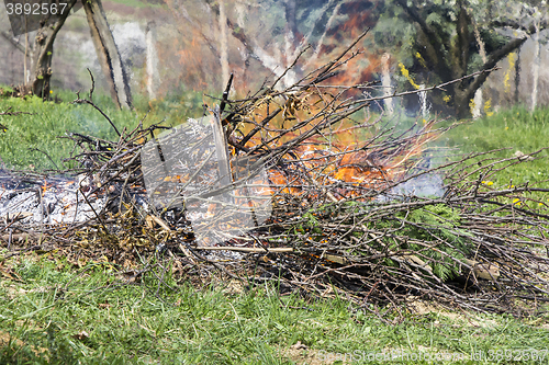
[[[258,101],[245,121],[265,119],[277,107],[280,113],[265,130],[249,138],[245,147],[277,149],[299,138],[324,122],[323,112],[330,102],[328,93],[314,90],[291,95],[284,104],[271,99]],[[325,134],[307,137],[283,153],[282,162],[269,168],[269,181],[264,183],[272,186],[271,194],[301,197],[305,194],[314,198],[315,191],[329,189],[335,199],[360,198],[369,190],[383,190],[404,176],[424,146],[438,137],[430,132],[432,123],[401,139],[391,150],[377,150],[369,146],[373,130],[368,128],[368,123],[344,118]],[[239,130],[246,136],[257,125],[257,122],[242,123]]]

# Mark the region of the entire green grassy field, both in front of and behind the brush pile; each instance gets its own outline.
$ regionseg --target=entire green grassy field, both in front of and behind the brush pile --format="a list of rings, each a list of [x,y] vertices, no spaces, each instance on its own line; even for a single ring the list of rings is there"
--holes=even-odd
[[[135,126],[148,109],[146,123],[166,115],[168,124],[193,110],[183,110],[179,96],[156,105],[137,100],[135,112],[115,111],[108,98],[96,101],[120,129]],[[187,102],[195,105],[197,96]],[[29,148],[59,161],[71,148],[56,138],[66,130],[115,136],[89,105],[0,99],[0,112],[10,106],[34,113],[0,116],[8,128],[0,156],[11,167],[52,168]],[[511,157],[548,147],[548,124],[549,110],[515,109],[464,124],[440,142],[466,153],[509,147],[497,153]],[[547,161],[502,171],[493,183],[509,179],[549,179]],[[168,266],[173,288],[158,288],[152,273],[126,283],[122,267],[104,261],[69,262],[55,252],[4,259],[7,253],[0,247],[0,364],[347,364],[403,353],[395,363],[456,363],[440,357],[455,356],[463,364],[549,364],[548,315],[514,319],[423,303],[415,312],[389,315],[386,323],[349,306],[341,293],[305,300],[246,282],[199,285],[197,277],[173,280]],[[419,353],[434,361],[415,360]]]

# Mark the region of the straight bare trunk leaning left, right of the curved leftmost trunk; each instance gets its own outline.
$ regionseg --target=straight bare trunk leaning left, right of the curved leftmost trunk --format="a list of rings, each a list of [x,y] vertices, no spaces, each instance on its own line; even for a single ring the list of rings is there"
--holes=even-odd
[[[82,3],[90,25],[91,38],[111,89],[111,96],[117,107],[131,109],[132,94],[127,75],[112,32],[109,28],[101,0],[85,0]]]

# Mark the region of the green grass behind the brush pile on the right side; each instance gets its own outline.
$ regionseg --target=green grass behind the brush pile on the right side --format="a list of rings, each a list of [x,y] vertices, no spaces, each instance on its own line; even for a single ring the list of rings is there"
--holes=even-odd
[[[406,130],[415,123],[421,122],[418,122],[418,118],[405,116],[404,113],[388,118],[390,126],[396,126],[397,129],[402,130]],[[453,123],[456,123],[456,119],[448,118],[440,122],[438,127],[447,127]],[[493,171],[483,179],[486,183],[483,187],[504,190],[527,182],[528,186],[549,187],[549,149],[541,150],[549,148],[549,107],[539,107],[530,112],[523,106],[516,106],[491,116],[462,121],[462,124],[445,133],[438,140],[430,144],[430,147],[438,150],[434,155],[439,163],[461,160],[470,153],[502,149],[468,161],[473,169],[477,169],[477,162],[482,160],[484,160],[482,163],[486,166],[497,160],[511,159],[505,164],[512,166]],[[446,150],[440,152],[440,147]],[[541,151],[535,155],[534,160],[518,163],[515,153],[528,155],[538,150]],[[503,163],[498,163],[495,169],[503,167]],[[547,194],[530,192],[527,193],[527,197],[535,201],[529,204],[530,208],[542,209],[549,206]]]

